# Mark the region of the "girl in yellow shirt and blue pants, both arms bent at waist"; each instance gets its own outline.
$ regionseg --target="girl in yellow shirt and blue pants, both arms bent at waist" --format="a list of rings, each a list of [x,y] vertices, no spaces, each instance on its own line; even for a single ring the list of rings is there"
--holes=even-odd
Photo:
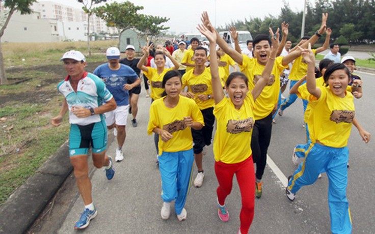
[[[159,170],[162,177],[162,219],[171,214],[171,201],[175,201],[175,212],[179,221],[186,219],[184,209],[189,191],[193,156],[192,129],[203,127],[203,116],[194,100],[180,96],[181,75],[168,71],[162,83],[163,97],[150,107],[147,133],[159,136]]]

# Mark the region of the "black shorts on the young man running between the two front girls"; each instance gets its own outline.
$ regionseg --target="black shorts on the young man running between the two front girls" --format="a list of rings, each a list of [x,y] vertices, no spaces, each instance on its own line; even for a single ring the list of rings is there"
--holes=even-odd
[[[210,145],[212,141],[213,124],[215,123],[215,115],[213,115],[213,107],[201,110],[204,126],[201,130],[192,129],[193,135],[193,150],[194,154],[199,154],[203,151],[205,145]]]

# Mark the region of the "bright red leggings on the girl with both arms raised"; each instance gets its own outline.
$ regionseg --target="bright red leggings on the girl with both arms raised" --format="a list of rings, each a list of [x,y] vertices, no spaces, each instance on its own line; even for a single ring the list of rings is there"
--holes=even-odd
[[[242,199],[242,209],[239,214],[241,233],[248,233],[254,218],[255,173],[253,157],[250,156],[245,161],[234,164],[215,162],[215,173],[219,182],[216,193],[219,203],[222,205],[225,204],[225,198],[232,190],[233,176],[234,173],[236,174]]]

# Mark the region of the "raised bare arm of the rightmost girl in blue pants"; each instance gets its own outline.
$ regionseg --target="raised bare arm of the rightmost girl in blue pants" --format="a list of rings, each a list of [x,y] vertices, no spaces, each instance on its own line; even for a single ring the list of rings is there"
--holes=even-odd
[[[320,98],[321,91],[316,87],[315,81],[315,54],[311,50],[311,44],[308,45],[307,49],[302,49],[302,56],[307,63],[307,75],[306,75],[306,87],[307,91],[314,95],[316,98]]]

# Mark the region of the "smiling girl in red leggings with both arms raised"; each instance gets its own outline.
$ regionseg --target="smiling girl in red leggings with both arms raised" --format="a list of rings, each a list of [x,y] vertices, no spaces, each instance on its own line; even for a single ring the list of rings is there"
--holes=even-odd
[[[254,102],[269,82],[277,48],[279,45],[279,30],[274,38],[270,58],[265,65],[261,77],[254,89],[249,92],[248,78],[240,72],[229,75],[225,89],[229,98],[224,97],[219,76],[218,60],[215,42],[218,34],[215,28],[209,30],[200,25],[200,32],[210,41],[210,66],[212,77],[212,91],[215,100],[213,114],[217,119],[217,130],[213,141],[215,155],[215,173],[219,182],[217,189],[218,216],[223,222],[229,220],[225,199],[232,189],[233,176],[236,174],[242,197],[242,209],[239,215],[240,228],[237,233],[248,233],[254,217],[255,173],[250,148],[252,130],[254,126]]]

